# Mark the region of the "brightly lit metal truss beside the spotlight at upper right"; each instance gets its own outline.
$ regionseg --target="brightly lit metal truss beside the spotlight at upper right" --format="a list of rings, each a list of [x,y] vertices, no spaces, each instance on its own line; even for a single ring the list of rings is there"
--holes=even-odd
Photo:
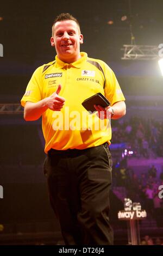
[[[159,57],[158,46],[151,45],[123,45],[124,55],[121,59],[154,60]]]

